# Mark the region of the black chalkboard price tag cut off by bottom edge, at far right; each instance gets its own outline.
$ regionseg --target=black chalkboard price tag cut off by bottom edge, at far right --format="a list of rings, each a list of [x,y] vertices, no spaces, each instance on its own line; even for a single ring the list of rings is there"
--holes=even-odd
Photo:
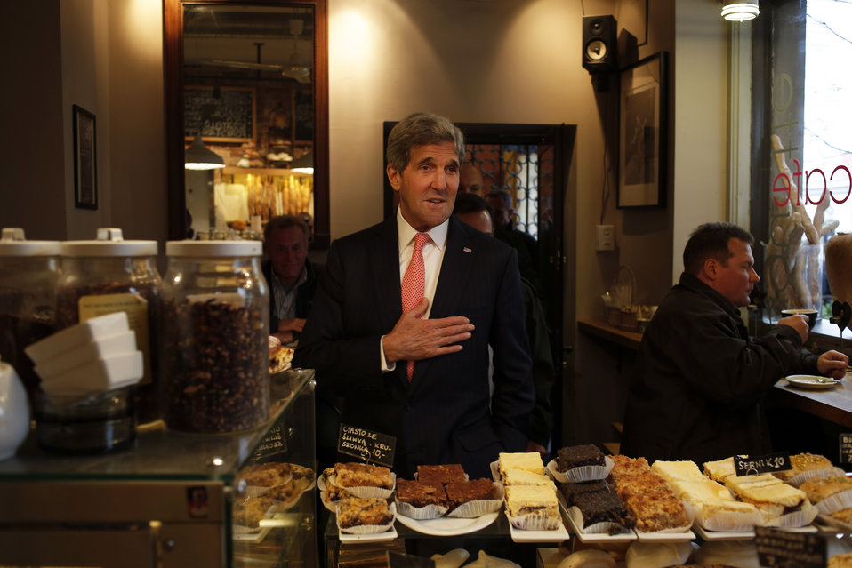
[[[786,532],[763,526],[754,527],[761,566],[824,568],[825,539],[812,532]]]

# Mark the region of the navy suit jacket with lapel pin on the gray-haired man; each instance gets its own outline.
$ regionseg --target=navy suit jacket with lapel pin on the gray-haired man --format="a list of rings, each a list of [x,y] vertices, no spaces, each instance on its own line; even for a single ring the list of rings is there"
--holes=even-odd
[[[342,397],[342,422],[397,437],[394,469],[461,463],[489,476],[499,452],[526,450],[535,403],[516,252],[449,220],[430,318],[467,316],[462,350],[382,372],[380,338],[402,314],[396,215],[337,239],[326,261],[294,364]],[[494,351],[489,397],[488,345]]]

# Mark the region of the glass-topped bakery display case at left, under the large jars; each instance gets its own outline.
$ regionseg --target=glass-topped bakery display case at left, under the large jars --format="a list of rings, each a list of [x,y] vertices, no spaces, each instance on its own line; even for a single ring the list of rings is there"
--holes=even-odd
[[[271,420],[237,434],[153,422],[126,450],[70,454],[32,430],[0,461],[0,565],[316,567],[314,373],[271,383]]]

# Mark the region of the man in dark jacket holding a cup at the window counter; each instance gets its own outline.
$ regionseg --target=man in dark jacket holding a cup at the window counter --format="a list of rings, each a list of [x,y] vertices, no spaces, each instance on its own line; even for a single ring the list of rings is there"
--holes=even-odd
[[[755,273],[752,235],[730,223],[695,229],[684,274],[648,324],[631,382],[621,451],[703,463],[772,451],[762,402],[794,373],[840,379],[848,357],[802,350],[805,316],[784,317],[751,338],[738,308]]]

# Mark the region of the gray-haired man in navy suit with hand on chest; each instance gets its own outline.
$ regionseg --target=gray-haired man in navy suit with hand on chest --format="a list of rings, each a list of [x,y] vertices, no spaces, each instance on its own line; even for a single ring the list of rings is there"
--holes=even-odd
[[[463,155],[462,132],[443,116],[415,113],[394,127],[397,214],[332,244],[295,355],[342,399],[344,424],[396,436],[401,476],[441,463],[490,476],[499,452],[526,450],[535,390],[518,257],[452,216]],[[417,233],[429,235],[423,298],[403,313]]]

